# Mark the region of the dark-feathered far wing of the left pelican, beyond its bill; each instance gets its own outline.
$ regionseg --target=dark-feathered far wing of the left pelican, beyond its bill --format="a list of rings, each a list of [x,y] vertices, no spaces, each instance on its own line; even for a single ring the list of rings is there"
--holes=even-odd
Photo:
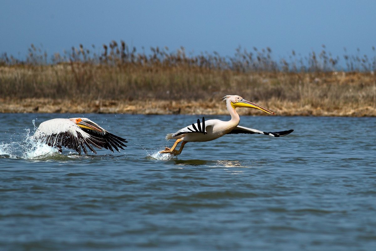
[[[101,147],[103,147],[105,149],[109,149],[111,152],[114,152],[112,147],[115,148],[115,150],[118,151],[118,152],[119,152],[118,148],[124,150],[123,146],[127,147],[126,145],[124,145],[124,143],[128,142],[128,141],[126,141],[125,138],[121,138],[117,135],[114,135],[114,134],[106,131],[105,129],[100,127],[97,123],[94,123],[89,119],[82,118],[82,121],[98,129],[98,131],[96,131],[96,130],[92,130],[92,129],[81,128],[84,132],[88,133],[89,135],[91,135],[93,137],[100,138],[102,141],[104,141],[104,143],[100,144]]]

